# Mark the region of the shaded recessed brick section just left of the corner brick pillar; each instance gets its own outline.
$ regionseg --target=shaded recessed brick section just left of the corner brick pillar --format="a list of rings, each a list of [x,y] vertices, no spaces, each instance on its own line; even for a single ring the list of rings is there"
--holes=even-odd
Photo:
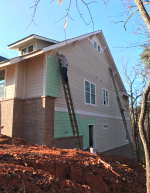
[[[21,138],[35,144],[44,143],[45,98],[31,98],[23,101],[23,126]]]

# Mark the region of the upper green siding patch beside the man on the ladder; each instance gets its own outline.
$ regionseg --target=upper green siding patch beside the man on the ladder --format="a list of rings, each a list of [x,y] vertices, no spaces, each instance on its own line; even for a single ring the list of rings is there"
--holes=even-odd
[[[60,85],[60,72],[58,59],[54,55],[47,58],[46,95],[57,97]]]

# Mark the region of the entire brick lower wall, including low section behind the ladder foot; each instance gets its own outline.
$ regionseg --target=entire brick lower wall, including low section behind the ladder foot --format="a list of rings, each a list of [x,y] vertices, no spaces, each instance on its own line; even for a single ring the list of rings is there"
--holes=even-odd
[[[45,144],[59,148],[75,148],[73,137],[54,138],[53,97],[10,99],[0,102],[1,133],[17,137],[34,144]],[[83,136],[80,136],[83,148]]]

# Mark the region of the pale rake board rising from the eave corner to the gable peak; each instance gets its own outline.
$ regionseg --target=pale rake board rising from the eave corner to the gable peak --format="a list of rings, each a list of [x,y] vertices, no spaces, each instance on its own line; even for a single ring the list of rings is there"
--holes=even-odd
[[[59,47],[62,47],[62,46],[65,46],[66,44],[70,44],[70,43],[72,43],[72,42],[74,42],[74,41],[77,41],[77,40],[81,40],[81,39],[85,39],[85,38],[87,38],[87,37],[89,37],[89,36],[91,36],[91,35],[95,35],[95,34],[98,34],[98,33],[100,33],[101,32],[101,30],[99,30],[99,31],[97,31],[97,32],[92,32],[92,33],[90,33],[90,34],[85,34],[85,35],[82,35],[82,36],[79,36],[79,37],[77,37],[77,38],[73,38],[73,39],[70,39],[70,40],[66,40],[66,41],[63,41],[63,42],[60,42],[60,43],[58,43],[58,44],[55,44],[55,45],[52,45],[52,46],[48,46],[48,47],[45,47],[45,48],[43,48],[43,52],[47,52],[47,51],[50,51],[50,50],[54,50],[54,49],[56,49],[56,48],[59,48]]]

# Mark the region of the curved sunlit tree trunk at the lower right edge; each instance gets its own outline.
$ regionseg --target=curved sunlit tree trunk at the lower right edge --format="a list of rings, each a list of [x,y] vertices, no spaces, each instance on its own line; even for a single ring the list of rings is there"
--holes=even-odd
[[[144,146],[144,152],[145,152],[145,161],[146,161],[146,185],[147,185],[147,193],[150,193],[150,149],[149,149],[149,143],[147,138],[147,133],[144,129],[144,122],[146,117],[146,107],[147,107],[147,97],[150,92],[150,79],[148,82],[148,85],[143,93],[142,98],[142,107],[141,107],[141,113],[140,113],[140,119],[139,119],[139,132],[140,137]]]

